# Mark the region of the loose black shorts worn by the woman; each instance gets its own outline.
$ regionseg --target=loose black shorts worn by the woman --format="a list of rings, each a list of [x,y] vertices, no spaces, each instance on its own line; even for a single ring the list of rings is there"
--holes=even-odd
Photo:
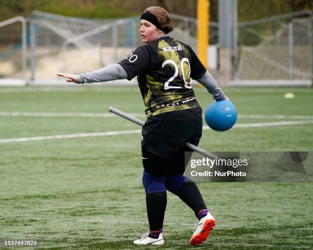
[[[155,176],[175,176],[185,171],[185,143],[198,145],[202,136],[202,109],[165,112],[150,116],[142,128],[144,169]],[[188,159],[187,159],[188,160]],[[187,161],[188,162],[188,161]]]

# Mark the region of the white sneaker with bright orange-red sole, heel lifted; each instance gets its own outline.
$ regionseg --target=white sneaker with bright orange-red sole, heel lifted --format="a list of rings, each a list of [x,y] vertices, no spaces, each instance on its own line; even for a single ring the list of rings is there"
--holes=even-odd
[[[215,219],[208,212],[208,214],[199,220],[199,223],[194,226],[194,233],[189,241],[191,245],[198,245],[206,241],[211,230],[215,226]]]

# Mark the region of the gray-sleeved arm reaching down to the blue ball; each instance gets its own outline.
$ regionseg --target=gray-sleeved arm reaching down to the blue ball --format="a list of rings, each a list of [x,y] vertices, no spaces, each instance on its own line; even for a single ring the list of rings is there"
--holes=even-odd
[[[213,95],[213,99],[215,101],[222,101],[228,99],[228,97],[224,94],[220,87],[218,87],[215,79],[208,71],[206,71],[202,77],[195,80],[202,84],[203,86],[205,86],[208,92]]]

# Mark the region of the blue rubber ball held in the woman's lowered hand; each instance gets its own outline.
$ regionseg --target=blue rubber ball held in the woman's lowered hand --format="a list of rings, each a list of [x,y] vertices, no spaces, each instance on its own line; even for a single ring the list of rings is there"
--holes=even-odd
[[[236,123],[237,110],[231,101],[214,102],[207,107],[205,120],[212,130],[226,131]]]

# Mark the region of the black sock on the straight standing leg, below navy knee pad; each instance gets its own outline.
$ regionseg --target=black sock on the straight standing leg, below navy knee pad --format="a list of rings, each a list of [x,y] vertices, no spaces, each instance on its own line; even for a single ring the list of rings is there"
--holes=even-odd
[[[163,228],[166,203],[166,192],[155,192],[146,194],[146,204],[150,230],[157,231]]]

